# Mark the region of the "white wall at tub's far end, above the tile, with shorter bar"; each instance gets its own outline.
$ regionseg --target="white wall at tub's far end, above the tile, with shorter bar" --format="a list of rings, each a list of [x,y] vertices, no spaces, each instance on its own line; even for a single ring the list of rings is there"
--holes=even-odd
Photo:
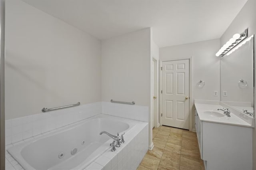
[[[146,28],[102,41],[102,101],[134,101],[148,107],[150,115],[150,36],[151,29]]]

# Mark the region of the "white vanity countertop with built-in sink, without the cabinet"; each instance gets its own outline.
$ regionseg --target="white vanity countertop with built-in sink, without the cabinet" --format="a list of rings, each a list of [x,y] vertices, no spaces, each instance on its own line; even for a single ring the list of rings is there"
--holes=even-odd
[[[201,121],[213,122],[213,123],[222,123],[228,125],[238,125],[244,127],[252,127],[249,123],[240,119],[238,116],[234,115],[232,112],[230,113],[231,117],[213,117],[208,114],[204,114],[204,111],[215,111],[223,114],[223,111],[218,111],[217,109],[222,109],[221,105],[210,105],[210,104],[201,104],[195,103],[196,111],[198,113],[198,117]]]

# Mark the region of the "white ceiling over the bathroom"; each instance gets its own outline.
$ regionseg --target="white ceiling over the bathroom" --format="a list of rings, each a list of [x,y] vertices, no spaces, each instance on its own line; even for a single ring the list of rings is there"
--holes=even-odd
[[[247,0],[23,0],[103,40],[152,27],[159,47],[220,38]]]

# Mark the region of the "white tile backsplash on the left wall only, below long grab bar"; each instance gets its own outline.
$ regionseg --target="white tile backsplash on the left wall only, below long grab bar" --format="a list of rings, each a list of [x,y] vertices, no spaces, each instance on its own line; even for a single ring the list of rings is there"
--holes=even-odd
[[[101,113],[101,102],[5,121],[6,145],[38,136]]]

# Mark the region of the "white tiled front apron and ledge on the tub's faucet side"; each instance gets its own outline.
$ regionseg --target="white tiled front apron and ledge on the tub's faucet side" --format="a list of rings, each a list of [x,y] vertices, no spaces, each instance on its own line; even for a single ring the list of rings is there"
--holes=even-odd
[[[115,152],[107,150],[85,170],[136,170],[148,151],[148,123],[137,125],[124,140]]]

